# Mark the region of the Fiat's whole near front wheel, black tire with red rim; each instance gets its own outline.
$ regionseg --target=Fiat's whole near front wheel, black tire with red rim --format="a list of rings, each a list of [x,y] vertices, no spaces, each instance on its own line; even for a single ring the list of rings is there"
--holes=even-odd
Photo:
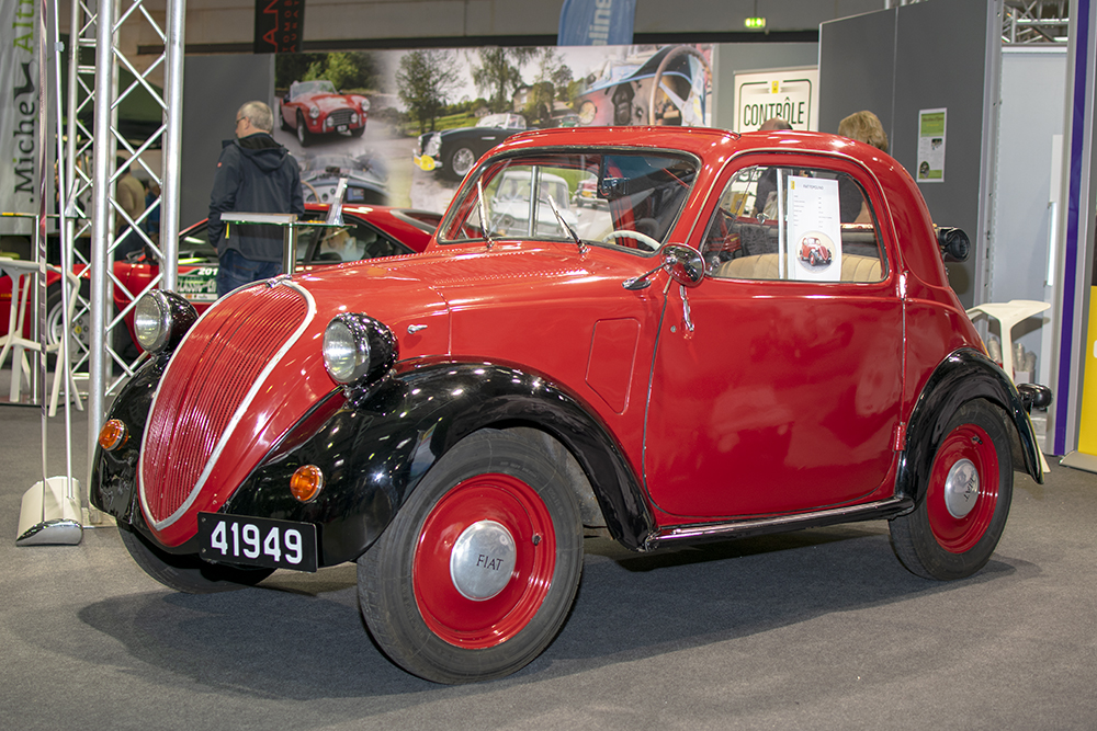
[[[552,642],[583,570],[562,459],[572,457],[535,430],[484,430],[431,468],[358,560],[362,615],[389,659],[436,683],[471,683],[509,675]]]

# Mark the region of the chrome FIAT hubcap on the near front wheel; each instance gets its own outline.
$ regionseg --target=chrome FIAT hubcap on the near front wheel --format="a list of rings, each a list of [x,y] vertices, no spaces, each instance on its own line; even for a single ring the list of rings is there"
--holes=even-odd
[[[465,528],[450,553],[450,579],[473,602],[496,596],[514,571],[518,547],[506,526],[479,521]]]

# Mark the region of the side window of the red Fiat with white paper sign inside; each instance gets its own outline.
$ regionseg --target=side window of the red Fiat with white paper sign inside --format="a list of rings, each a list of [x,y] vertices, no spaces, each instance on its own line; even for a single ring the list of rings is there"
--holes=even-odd
[[[887,267],[878,231],[850,175],[753,165],[724,187],[701,253],[716,278],[880,282]]]

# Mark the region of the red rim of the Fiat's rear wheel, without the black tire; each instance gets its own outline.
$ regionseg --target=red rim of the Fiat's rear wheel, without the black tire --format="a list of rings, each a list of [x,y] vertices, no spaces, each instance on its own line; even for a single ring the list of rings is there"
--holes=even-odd
[[[966,460],[966,461],[964,461]],[[965,515],[957,516],[948,505],[949,472],[972,465],[977,476],[977,495]],[[955,488],[952,488],[955,493]],[[998,505],[998,453],[985,431],[974,424],[958,426],[946,437],[934,458],[926,507],[934,538],[947,551],[963,553],[986,534]]]

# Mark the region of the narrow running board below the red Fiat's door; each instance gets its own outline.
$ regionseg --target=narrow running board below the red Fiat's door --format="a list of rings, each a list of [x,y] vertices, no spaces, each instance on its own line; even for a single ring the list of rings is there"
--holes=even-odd
[[[769,533],[787,533],[804,528],[819,528],[838,523],[855,523],[858,521],[879,521],[901,515],[914,507],[911,498],[890,498],[875,503],[834,507],[815,513],[798,513],[795,515],[779,515],[731,523],[692,523],[663,528],[648,536],[644,549],[652,550],[661,546],[681,544],[698,544],[706,540],[725,540],[728,538],[745,538]]]

